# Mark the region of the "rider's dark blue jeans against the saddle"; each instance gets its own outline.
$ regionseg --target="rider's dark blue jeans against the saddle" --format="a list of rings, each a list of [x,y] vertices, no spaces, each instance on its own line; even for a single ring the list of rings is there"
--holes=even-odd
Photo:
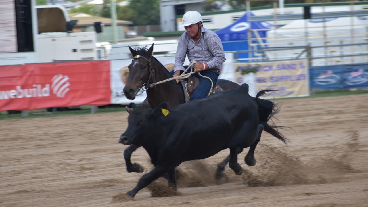
[[[187,69],[188,66],[184,66],[185,69]],[[183,71],[180,71],[182,73]],[[174,75],[174,70],[170,71],[171,75]],[[206,76],[211,78],[213,86],[217,83],[217,78],[219,77],[219,72],[214,72],[210,70],[205,70],[199,72],[202,76]],[[207,78],[203,78],[199,76],[197,73],[193,73],[192,76],[199,79],[199,85],[195,90],[193,91],[192,95],[190,96],[190,100],[198,99],[198,98],[205,98],[211,89],[211,81],[209,81]]]

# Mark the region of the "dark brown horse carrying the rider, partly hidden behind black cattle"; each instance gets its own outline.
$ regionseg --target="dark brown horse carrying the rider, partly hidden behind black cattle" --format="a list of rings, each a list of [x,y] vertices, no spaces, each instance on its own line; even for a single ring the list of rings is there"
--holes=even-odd
[[[137,92],[148,84],[173,77],[171,73],[152,56],[153,44],[149,49],[138,48],[137,50],[134,50],[130,47],[129,49],[134,58],[132,63],[128,66],[129,76],[123,89],[124,94],[128,99],[135,99]],[[218,79],[217,84],[223,88],[223,90],[239,87],[239,84],[223,79]],[[152,88],[148,88],[147,100],[151,108],[156,108],[160,103],[166,102],[168,104],[168,108],[172,109],[181,103],[185,103],[184,90],[181,84],[177,84],[175,80],[167,81],[165,83],[155,85]],[[269,126],[268,124],[270,118],[277,112],[279,112],[279,109],[277,109],[275,103],[259,99],[259,124],[263,124],[266,132],[286,143],[286,138],[277,131],[277,128],[281,127],[275,126],[274,124]],[[245,163],[249,166],[255,165],[256,161],[254,159],[254,150],[258,142],[259,140],[255,141],[255,143],[251,145],[250,150],[245,157]],[[124,151],[124,159],[128,172],[143,172],[143,168],[139,164],[132,164],[130,161],[132,152],[134,152],[138,147],[139,146],[132,144]],[[238,153],[241,151],[243,151],[243,148],[238,149]],[[222,171],[229,160],[230,155],[218,164],[216,178],[223,176]]]

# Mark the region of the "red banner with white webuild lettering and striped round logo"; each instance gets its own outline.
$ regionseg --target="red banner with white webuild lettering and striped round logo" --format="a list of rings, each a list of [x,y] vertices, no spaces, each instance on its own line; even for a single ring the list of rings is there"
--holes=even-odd
[[[106,105],[110,61],[0,66],[0,111]]]

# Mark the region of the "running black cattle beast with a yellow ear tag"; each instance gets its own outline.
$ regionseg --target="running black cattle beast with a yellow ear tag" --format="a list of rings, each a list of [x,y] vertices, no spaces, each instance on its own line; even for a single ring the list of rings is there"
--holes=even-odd
[[[166,110],[166,103],[155,109],[148,105],[134,106],[119,143],[143,146],[155,168],[139,179],[128,196],[134,197],[165,173],[169,186],[176,189],[176,166],[184,161],[208,158],[226,148],[230,148],[230,168],[240,175],[243,168],[237,161],[237,147],[251,147],[245,160],[254,159],[263,130],[263,125],[258,124],[258,97],[264,93],[258,92],[254,99],[248,94],[248,85],[243,84],[170,111]]]

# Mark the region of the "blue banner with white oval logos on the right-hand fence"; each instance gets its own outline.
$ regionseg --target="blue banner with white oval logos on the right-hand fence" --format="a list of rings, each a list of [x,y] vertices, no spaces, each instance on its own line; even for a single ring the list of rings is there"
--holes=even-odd
[[[311,88],[366,88],[368,65],[321,66],[309,69]]]

